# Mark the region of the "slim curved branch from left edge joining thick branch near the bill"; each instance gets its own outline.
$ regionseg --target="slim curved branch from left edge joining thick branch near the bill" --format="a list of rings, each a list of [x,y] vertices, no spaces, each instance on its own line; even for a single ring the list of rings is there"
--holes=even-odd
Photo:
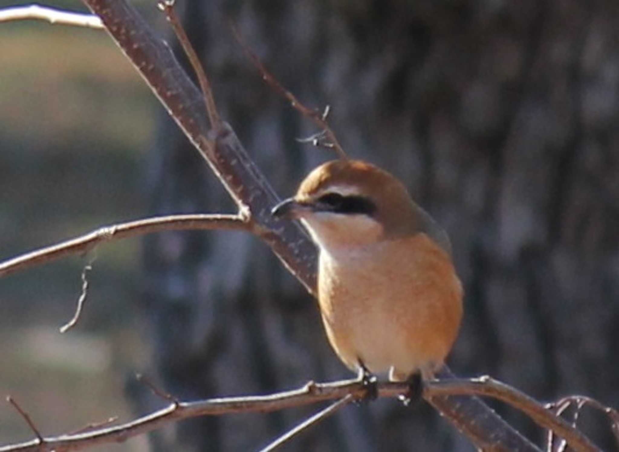
[[[41,263],[48,263],[68,255],[90,251],[100,242],[126,239],[152,234],[153,232],[181,231],[187,229],[225,229],[227,231],[251,231],[253,225],[239,215],[196,214],[168,215],[103,226],[84,236],[56,245],[41,248],[0,262],[0,277],[24,270]]]

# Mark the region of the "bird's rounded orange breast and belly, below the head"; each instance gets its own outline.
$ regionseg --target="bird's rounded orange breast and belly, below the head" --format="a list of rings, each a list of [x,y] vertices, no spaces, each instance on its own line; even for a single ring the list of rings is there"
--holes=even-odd
[[[351,369],[431,373],[454,343],[462,286],[443,249],[423,233],[354,251],[321,252],[319,305],[327,336]]]

